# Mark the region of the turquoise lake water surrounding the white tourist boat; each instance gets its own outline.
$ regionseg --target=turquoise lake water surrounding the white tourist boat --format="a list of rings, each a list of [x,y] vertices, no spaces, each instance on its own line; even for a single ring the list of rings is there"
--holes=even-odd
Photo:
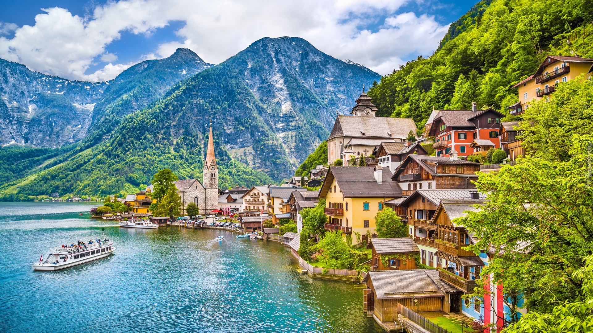
[[[90,219],[96,206],[0,203],[0,332],[381,332],[362,312],[362,285],[299,274],[282,244],[119,228]],[[117,248],[110,257],[31,268],[53,246],[103,237],[101,228]]]

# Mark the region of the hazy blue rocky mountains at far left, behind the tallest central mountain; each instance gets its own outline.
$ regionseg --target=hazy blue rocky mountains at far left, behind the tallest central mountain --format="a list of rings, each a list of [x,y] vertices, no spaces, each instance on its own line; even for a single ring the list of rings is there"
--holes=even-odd
[[[177,82],[212,66],[189,49],[146,60],[107,82],[69,81],[0,59],[0,143],[60,147],[97,143],[121,116],[146,107]]]

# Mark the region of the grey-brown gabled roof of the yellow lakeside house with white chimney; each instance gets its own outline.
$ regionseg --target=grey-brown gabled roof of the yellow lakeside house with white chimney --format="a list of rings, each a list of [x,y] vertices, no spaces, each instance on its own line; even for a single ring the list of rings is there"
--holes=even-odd
[[[331,183],[336,179],[344,197],[401,197],[401,188],[391,181],[389,168],[382,169],[382,183],[375,180],[374,167],[330,167],[326,181],[321,185],[320,198],[327,196]]]

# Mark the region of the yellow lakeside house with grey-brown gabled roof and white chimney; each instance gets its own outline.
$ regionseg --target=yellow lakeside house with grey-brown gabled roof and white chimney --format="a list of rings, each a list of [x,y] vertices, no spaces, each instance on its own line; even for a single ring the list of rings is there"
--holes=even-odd
[[[391,180],[389,168],[330,167],[321,186],[320,198],[326,199],[326,230],[349,234],[375,230],[375,215],[384,203],[401,197],[401,188]]]

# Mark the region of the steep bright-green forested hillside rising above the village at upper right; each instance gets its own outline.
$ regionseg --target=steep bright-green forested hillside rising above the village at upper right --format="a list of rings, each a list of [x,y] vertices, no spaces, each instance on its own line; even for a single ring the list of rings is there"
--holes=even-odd
[[[593,57],[591,0],[493,0],[452,24],[431,57],[418,57],[369,89],[381,116],[411,117],[419,128],[433,109],[517,102],[512,85],[549,55]]]

